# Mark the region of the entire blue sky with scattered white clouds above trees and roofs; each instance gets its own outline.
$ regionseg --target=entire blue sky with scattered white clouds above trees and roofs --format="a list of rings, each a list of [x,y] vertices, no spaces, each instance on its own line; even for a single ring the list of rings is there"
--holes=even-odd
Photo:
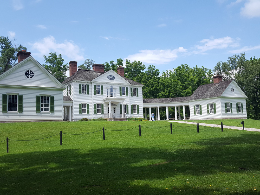
[[[50,52],[78,66],[122,58],[160,72],[181,64],[213,70],[241,52],[260,58],[260,0],[0,2],[0,36],[41,64]]]

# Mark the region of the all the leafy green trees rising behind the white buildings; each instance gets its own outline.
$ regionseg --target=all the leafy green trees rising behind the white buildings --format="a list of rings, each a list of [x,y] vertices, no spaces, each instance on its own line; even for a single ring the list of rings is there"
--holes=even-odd
[[[0,74],[11,68],[17,61],[17,52],[27,50],[26,47],[12,45],[8,37],[0,37]],[[66,79],[66,71],[69,69],[68,64],[64,64],[61,54],[56,52],[49,53],[49,56],[43,56],[44,68],[57,78],[60,82]],[[85,62],[78,66],[80,69],[90,70],[94,60],[86,59]],[[123,60],[118,58],[115,61],[105,62],[105,71],[110,69],[117,72],[119,66],[123,66]],[[216,66],[211,69],[205,67],[191,68],[187,64],[181,64],[173,70],[162,71],[161,75],[154,65],[146,67],[140,61],[126,59],[125,77],[132,79],[144,85],[143,98],[168,98],[168,97],[185,97],[190,96],[200,85],[212,83],[213,72],[222,75],[223,80],[234,79],[238,86],[248,97],[246,99],[247,116],[251,119],[260,119],[260,58],[250,58],[246,60],[245,53],[235,54],[228,58],[226,62],[217,62]],[[170,112],[171,110],[169,110]],[[161,116],[164,113],[160,114]]]

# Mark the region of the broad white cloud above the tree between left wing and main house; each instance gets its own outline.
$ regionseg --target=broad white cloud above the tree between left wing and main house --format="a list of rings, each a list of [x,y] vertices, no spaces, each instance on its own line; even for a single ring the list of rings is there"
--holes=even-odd
[[[85,58],[80,54],[82,51],[74,44],[73,41],[65,40],[63,43],[57,43],[53,36],[47,36],[42,40],[35,42],[32,45],[32,48],[37,50],[39,53],[35,53],[34,55],[48,56],[51,52],[56,52],[57,54],[61,54],[63,58],[66,56],[70,60],[81,61]]]

